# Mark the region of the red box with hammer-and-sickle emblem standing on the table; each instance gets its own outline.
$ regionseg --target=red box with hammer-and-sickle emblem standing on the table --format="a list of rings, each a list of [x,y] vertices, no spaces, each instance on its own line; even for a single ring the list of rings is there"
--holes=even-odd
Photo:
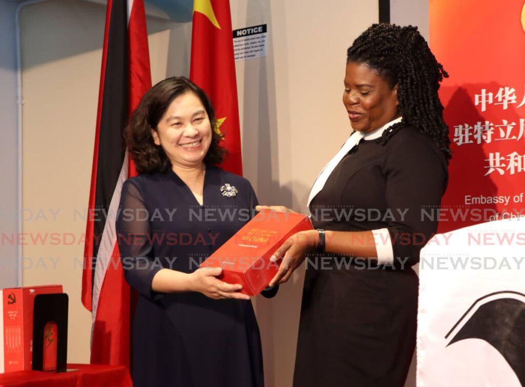
[[[49,293],[62,293],[62,286],[0,289],[0,373],[31,370],[35,296]]]

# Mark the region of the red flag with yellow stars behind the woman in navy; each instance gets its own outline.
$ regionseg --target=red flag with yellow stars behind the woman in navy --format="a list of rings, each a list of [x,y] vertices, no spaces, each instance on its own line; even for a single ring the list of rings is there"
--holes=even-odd
[[[206,91],[229,157],[221,167],[243,174],[229,0],[194,0],[190,79]]]

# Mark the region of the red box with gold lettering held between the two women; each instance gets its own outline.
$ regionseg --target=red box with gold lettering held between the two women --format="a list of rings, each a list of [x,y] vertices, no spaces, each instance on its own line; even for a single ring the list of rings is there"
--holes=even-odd
[[[261,211],[201,267],[222,268],[220,279],[240,283],[242,293],[257,296],[279,269],[280,260],[270,261],[272,254],[296,232],[311,229],[312,224],[306,215]]]

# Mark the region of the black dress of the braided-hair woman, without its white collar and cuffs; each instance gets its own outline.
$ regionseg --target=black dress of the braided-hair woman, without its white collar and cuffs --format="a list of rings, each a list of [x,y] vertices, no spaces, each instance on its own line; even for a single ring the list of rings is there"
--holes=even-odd
[[[308,258],[295,387],[404,385],[416,337],[418,278],[411,266],[437,229],[437,219],[422,220],[421,210],[439,207],[447,179],[442,152],[412,127],[384,146],[361,140],[333,170],[310,203],[314,227],[387,228],[394,261]]]

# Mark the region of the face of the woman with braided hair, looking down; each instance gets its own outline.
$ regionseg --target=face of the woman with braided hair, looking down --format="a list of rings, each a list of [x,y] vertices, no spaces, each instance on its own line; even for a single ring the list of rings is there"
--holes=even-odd
[[[343,104],[354,130],[369,133],[400,116],[397,85],[390,87],[376,70],[349,62],[344,77]]]

